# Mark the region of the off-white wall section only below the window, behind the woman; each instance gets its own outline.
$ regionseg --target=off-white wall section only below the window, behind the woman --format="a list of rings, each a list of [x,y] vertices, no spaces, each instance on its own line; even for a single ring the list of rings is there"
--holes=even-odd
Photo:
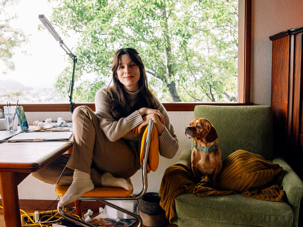
[[[58,117],[63,117],[65,120],[72,120],[72,114],[68,112],[26,112],[26,118],[28,123],[32,123],[35,120],[45,120],[52,117],[52,120],[56,120]],[[175,133],[179,141],[179,150],[173,159],[166,159],[160,156],[159,167],[156,172],[148,174],[148,192],[158,192],[160,188],[161,179],[165,169],[174,164],[176,159],[180,156],[180,153],[189,149],[191,146],[191,140],[185,136],[185,127],[188,127],[189,122],[193,119],[193,112],[168,112],[171,123],[175,128]],[[132,183],[135,186],[134,192],[140,192],[142,189],[142,172],[138,171],[132,176]],[[55,186],[46,184],[38,179],[35,179],[32,175],[28,176],[18,186],[19,199],[50,199],[55,200],[57,198],[55,193]]]

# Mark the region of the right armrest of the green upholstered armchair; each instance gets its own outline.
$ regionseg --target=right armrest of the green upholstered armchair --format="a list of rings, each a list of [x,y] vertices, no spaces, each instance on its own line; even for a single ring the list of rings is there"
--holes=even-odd
[[[303,182],[284,159],[275,158],[273,162],[282,166],[284,170],[282,187],[286,193],[286,200],[294,212],[292,226],[298,226],[300,202],[303,197]]]

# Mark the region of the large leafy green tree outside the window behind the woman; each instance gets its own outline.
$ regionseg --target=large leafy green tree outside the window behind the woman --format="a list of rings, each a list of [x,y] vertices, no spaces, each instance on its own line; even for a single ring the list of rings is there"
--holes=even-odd
[[[94,101],[122,47],[139,51],[161,101],[237,100],[238,1],[62,0],[53,10],[59,33],[80,37],[72,48],[77,101]],[[70,80],[71,71],[57,78],[58,90],[68,90],[62,81]],[[95,81],[82,81],[86,74]]]

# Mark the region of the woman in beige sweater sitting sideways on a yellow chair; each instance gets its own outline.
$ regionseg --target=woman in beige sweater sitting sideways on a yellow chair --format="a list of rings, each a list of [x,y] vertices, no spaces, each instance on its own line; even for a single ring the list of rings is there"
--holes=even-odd
[[[171,159],[178,150],[168,114],[148,89],[144,64],[135,49],[116,51],[112,81],[112,87],[96,93],[96,112],[86,106],[74,110],[72,155],[64,154],[32,173],[46,183],[70,185],[58,206],[74,202],[94,186],[132,189],[125,178],[140,168],[141,139],[149,120],[154,120],[159,133],[160,155]]]

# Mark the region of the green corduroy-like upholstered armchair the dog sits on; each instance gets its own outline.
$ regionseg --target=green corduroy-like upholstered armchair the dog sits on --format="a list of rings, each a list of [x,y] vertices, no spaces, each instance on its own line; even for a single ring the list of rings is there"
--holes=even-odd
[[[198,197],[185,192],[175,198],[176,215],[171,222],[178,227],[298,226],[303,183],[282,158],[275,157],[271,108],[197,105],[194,118],[197,117],[207,118],[216,128],[223,160],[242,149],[282,166],[286,196],[283,202],[271,202],[241,194]],[[191,150],[183,151],[176,163],[190,166]]]

